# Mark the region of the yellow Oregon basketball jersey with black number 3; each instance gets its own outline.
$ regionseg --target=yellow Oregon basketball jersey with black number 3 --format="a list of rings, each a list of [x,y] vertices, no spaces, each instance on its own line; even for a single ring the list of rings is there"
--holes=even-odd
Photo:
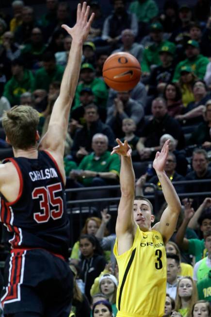
[[[160,232],[137,226],[130,250],[114,255],[119,267],[116,307],[118,317],[160,317],[166,295],[166,254]]]

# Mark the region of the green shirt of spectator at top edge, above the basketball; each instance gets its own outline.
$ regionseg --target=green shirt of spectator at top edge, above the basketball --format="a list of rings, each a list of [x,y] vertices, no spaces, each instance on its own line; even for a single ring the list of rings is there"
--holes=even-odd
[[[158,6],[154,0],[144,2],[133,1],[130,3],[129,11],[134,13],[139,22],[148,23],[158,15]]]

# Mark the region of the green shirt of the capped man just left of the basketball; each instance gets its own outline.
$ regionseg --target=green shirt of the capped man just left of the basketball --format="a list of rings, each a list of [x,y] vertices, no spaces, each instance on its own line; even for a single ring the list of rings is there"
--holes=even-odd
[[[91,88],[92,92],[95,96],[95,103],[97,106],[100,107],[106,107],[107,103],[107,98],[108,98],[108,89],[106,87],[106,84],[104,81],[100,78],[95,78],[89,85],[88,84],[79,84],[76,88],[76,93],[75,93],[75,104],[73,109],[77,108],[80,106],[80,92],[82,88]]]

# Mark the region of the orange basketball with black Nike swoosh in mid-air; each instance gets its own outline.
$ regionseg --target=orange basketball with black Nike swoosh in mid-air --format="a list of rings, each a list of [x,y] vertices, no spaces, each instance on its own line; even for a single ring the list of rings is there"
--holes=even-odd
[[[102,75],[110,88],[117,91],[130,90],[140,80],[141,66],[139,61],[130,53],[118,52],[106,59]]]

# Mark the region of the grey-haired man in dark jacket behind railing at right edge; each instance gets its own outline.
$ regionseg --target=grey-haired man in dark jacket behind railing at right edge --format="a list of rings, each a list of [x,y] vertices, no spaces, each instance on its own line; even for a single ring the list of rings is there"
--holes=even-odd
[[[199,180],[198,183],[186,185],[186,193],[197,193],[197,192],[210,192],[210,183],[200,183],[201,179],[211,178],[211,167],[209,167],[209,159],[207,152],[203,149],[195,149],[192,157],[193,171],[188,173],[185,179],[188,180]],[[204,196],[200,196],[199,201],[204,199]]]

